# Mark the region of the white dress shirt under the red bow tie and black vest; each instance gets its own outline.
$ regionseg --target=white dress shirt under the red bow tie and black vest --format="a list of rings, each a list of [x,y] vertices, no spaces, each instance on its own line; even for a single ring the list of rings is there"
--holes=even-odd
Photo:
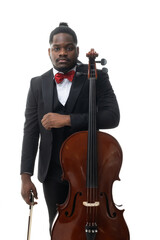
[[[74,70],[76,71],[76,67],[74,67],[73,69],[71,69],[71,71]],[[59,71],[57,71],[55,68],[53,68],[53,75],[55,76],[56,73],[58,73]],[[62,72],[60,72],[62,73]],[[62,73],[63,74],[63,73]],[[55,79],[54,79],[55,81]],[[65,106],[67,99],[69,97],[69,93],[70,93],[70,89],[72,86],[72,82],[70,82],[67,78],[64,78],[64,80],[61,83],[56,83],[56,88],[57,88],[57,95],[58,95],[58,100],[60,101],[60,103]]]

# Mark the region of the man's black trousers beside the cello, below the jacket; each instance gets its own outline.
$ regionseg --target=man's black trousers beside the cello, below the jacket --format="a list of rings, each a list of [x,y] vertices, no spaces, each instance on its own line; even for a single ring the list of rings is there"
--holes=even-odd
[[[57,204],[61,204],[66,200],[68,183],[56,182],[55,179],[46,179],[43,183],[43,191],[48,207],[51,232],[52,223],[57,213]]]

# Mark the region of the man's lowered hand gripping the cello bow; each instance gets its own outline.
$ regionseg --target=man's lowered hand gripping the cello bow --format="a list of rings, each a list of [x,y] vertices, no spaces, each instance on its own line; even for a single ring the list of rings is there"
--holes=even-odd
[[[31,181],[31,176],[29,174],[23,173],[21,175],[21,179],[22,179],[21,195],[22,195],[24,201],[27,204],[31,205],[31,202],[30,202],[31,190],[34,194],[34,198],[38,199],[36,187],[33,184],[33,182]],[[34,202],[34,204],[37,204],[37,202]]]

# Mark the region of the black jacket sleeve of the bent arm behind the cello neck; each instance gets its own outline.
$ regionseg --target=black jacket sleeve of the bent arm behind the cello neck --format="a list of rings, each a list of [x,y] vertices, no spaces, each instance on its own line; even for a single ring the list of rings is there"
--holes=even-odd
[[[98,71],[96,81],[97,128],[115,128],[120,121],[120,112],[115,93],[109,81],[109,76],[102,71]],[[88,113],[71,114],[71,126],[77,130],[87,129]]]

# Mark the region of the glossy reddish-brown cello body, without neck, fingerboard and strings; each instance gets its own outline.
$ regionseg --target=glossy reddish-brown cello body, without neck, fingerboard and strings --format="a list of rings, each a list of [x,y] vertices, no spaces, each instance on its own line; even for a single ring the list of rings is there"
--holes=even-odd
[[[52,240],[86,240],[87,207],[86,161],[88,132],[70,136],[61,148],[63,178],[70,184],[64,204],[58,206],[59,216],[53,226]],[[100,143],[100,144],[99,144]],[[102,145],[103,143],[103,145]],[[74,149],[74,151],[72,151]],[[98,200],[96,240],[129,240],[129,231],[123,210],[116,208],[112,198],[112,185],[119,180],[122,150],[116,139],[97,132]]]

